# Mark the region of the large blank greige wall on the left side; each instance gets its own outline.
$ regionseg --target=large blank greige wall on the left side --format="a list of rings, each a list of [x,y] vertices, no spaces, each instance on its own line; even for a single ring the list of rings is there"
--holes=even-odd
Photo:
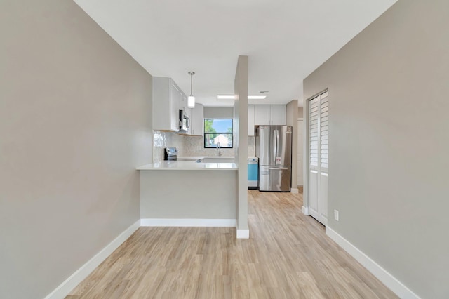
[[[73,1],[1,1],[0,36],[0,298],[43,298],[140,218],[152,81]]]

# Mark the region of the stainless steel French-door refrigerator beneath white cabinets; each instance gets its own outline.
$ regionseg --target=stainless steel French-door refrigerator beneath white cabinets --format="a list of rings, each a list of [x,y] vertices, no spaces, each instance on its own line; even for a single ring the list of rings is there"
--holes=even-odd
[[[292,126],[256,126],[255,156],[259,157],[259,190],[290,192]]]

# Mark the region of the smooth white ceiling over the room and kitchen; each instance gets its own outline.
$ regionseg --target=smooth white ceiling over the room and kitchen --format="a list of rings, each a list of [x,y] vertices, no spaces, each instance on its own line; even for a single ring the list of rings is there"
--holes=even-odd
[[[252,104],[299,100],[302,80],[396,0],[74,0],[153,76],[205,106],[232,106],[239,55]]]

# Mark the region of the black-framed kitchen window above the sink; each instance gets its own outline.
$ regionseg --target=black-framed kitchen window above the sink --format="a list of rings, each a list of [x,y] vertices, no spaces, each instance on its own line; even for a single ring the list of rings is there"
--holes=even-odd
[[[232,148],[232,119],[204,119],[204,148]]]

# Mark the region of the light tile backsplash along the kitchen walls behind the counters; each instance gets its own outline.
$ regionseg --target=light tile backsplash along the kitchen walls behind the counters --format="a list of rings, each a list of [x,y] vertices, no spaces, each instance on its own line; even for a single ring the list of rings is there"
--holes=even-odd
[[[179,135],[173,132],[153,131],[153,161],[163,161],[166,147],[176,147],[180,157],[218,156],[217,149],[204,148],[202,136]],[[255,138],[248,136],[248,156],[254,156]],[[235,148],[223,149],[222,156],[235,156]]]

